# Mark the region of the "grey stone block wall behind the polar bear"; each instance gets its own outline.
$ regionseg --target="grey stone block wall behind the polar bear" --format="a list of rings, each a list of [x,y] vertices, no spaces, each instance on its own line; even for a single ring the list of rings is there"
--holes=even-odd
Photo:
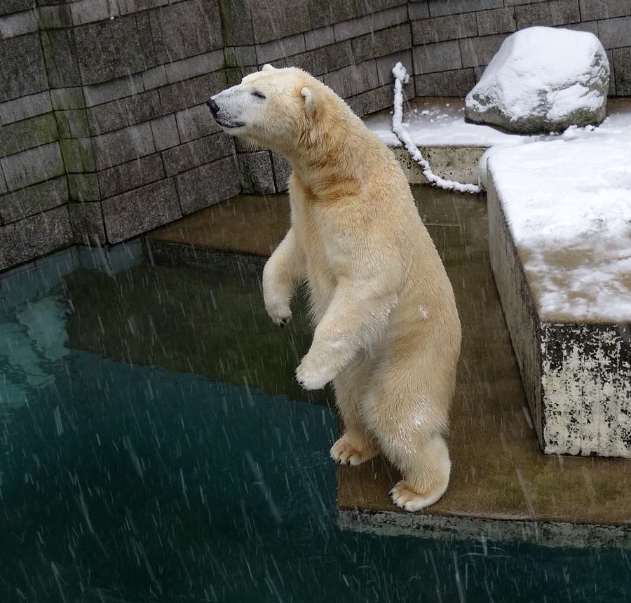
[[[104,245],[289,168],[212,123],[204,102],[266,62],[297,65],[360,115],[407,95],[465,95],[529,25],[599,35],[612,95],[631,95],[631,0],[2,0],[0,270]]]

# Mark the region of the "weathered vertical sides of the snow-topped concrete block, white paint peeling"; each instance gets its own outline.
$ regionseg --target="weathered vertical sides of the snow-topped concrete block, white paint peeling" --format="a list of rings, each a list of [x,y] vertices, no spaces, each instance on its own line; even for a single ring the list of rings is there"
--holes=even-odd
[[[543,452],[631,457],[628,323],[542,320],[492,179],[488,208],[491,266]]]

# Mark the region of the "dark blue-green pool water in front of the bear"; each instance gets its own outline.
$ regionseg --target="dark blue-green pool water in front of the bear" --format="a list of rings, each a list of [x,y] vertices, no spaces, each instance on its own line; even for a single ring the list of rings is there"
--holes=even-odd
[[[622,550],[341,531],[330,393],[255,276],[66,252],[0,278],[0,602],[622,602]]]

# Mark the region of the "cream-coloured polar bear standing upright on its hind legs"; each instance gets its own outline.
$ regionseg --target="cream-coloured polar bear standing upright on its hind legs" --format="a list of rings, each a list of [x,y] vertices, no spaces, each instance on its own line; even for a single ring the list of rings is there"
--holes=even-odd
[[[208,106],[226,133],[292,165],[291,227],[263,272],[282,325],[306,281],[315,332],[296,370],[332,381],[344,435],[330,454],[357,465],[383,453],[402,473],[391,496],[409,511],[445,493],[444,434],[461,325],[454,292],[391,151],[333,90],[301,69],[243,78]]]

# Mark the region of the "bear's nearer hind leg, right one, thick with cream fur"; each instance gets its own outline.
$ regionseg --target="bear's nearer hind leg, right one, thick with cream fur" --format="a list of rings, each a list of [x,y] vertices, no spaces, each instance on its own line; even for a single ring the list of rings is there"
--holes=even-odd
[[[438,353],[422,351],[424,358],[399,356],[379,363],[362,412],[381,452],[403,475],[391,496],[408,511],[440,499],[452,468],[442,433],[454,391],[455,362],[441,365],[435,361]]]

